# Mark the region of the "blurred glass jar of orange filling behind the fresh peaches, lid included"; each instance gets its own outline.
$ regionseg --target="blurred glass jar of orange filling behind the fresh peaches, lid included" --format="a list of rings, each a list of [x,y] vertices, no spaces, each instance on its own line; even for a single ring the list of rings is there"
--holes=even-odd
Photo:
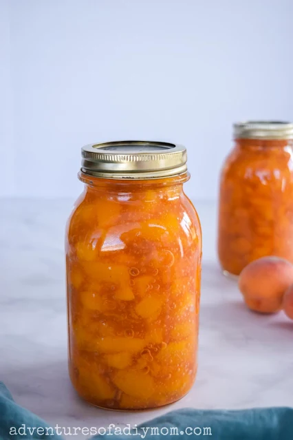
[[[293,124],[235,124],[221,171],[218,252],[226,275],[276,255],[293,263]]]

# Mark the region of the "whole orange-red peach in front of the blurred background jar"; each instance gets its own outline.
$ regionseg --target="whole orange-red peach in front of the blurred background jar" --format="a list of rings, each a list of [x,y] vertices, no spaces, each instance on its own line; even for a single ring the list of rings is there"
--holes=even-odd
[[[276,313],[291,284],[293,265],[272,256],[248,264],[239,275],[238,285],[248,308],[259,313]]]

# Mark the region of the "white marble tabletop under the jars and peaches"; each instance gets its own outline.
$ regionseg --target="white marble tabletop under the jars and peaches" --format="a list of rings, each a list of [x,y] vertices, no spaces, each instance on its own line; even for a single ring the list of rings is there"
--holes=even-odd
[[[85,404],[67,376],[63,235],[72,200],[1,200],[0,380],[19,404],[63,427],[141,423],[183,407],[293,406],[293,322],[246,309],[219,271],[215,206],[195,206],[204,235],[197,381],[176,404],[131,414]]]

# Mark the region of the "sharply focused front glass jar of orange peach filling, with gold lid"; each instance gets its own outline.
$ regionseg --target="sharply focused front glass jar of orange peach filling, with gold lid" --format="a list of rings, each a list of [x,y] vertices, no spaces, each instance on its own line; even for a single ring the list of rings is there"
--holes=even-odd
[[[66,234],[72,383],[103,408],[170,404],[197,370],[202,236],[186,149],[125,141],[82,156]]]

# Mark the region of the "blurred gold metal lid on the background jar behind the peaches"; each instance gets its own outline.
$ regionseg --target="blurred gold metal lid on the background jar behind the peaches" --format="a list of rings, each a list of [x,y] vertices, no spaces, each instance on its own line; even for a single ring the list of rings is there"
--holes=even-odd
[[[247,121],[233,125],[236,139],[293,139],[293,123],[283,121]]]

